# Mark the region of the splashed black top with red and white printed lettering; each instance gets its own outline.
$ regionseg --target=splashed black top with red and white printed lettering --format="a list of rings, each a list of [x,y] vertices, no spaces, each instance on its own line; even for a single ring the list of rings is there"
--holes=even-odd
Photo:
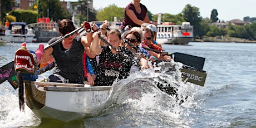
[[[121,53],[127,59],[111,52],[109,46],[101,46],[102,52],[99,55],[99,66],[96,66],[97,75],[95,86],[111,86],[117,79],[121,80],[129,76],[133,64],[133,54],[126,48],[121,47]]]

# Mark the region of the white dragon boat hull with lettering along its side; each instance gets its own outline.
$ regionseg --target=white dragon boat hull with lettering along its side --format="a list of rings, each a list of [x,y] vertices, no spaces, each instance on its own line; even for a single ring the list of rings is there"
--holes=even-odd
[[[52,82],[36,82],[40,86],[36,88],[35,83],[30,81],[26,81],[25,85],[27,106],[37,117],[63,122],[101,114],[111,88]]]

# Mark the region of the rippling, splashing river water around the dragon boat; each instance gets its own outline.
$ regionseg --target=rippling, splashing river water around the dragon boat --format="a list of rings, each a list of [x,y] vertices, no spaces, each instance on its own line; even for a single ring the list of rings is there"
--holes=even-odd
[[[19,43],[0,45],[0,66],[14,60]],[[38,43],[28,43],[36,50]],[[8,82],[0,85],[0,127],[256,127],[256,44],[190,42],[189,45],[163,45],[169,53],[181,52],[205,57],[205,86],[181,85],[182,95],[189,96],[181,105],[172,97],[150,88],[139,99],[119,99],[102,116],[69,123],[39,120],[26,106],[19,111],[18,90]],[[47,77],[48,71],[40,78]],[[147,72],[150,75],[149,72]],[[125,86],[136,74],[124,80]],[[138,89],[138,88],[137,88]],[[112,97],[113,99],[115,97]]]

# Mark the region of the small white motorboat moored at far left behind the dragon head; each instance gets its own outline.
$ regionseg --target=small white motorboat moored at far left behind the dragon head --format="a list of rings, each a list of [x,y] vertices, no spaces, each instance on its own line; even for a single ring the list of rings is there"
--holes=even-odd
[[[1,35],[2,42],[32,42],[35,31],[27,27],[26,22],[11,22],[9,28]]]

